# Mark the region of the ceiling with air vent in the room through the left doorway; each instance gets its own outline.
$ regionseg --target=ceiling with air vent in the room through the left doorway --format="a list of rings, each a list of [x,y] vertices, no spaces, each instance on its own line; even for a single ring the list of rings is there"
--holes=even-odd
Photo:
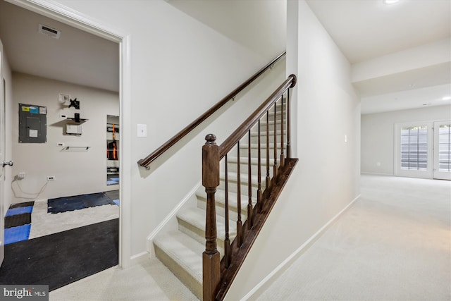
[[[61,31],[55,39],[39,23]],[[118,92],[119,46],[75,27],[0,0],[0,39],[20,73]]]

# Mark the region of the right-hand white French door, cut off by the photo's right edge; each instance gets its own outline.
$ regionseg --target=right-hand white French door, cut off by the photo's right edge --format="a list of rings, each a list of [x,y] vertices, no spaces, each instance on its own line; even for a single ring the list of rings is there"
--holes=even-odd
[[[433,178],[451,180],[451,121],[434,122]]]

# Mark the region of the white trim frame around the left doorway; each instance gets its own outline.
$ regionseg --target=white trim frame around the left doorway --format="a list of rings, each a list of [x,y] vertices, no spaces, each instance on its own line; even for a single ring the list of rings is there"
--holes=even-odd
[[[61,23],[76,27],[98,37],[109,39],[118,43],[119,51],[119,120],[123,143],[119,151],[121,162],[119,174],[119,266],[127,268],[131,265],[131,54],[130,35],[118,31],[110,25],[99,23],[98,20],[81,15],[78,11],[70,9],[56,2],[46,0],[6,0],[42,16],[58,20]]]

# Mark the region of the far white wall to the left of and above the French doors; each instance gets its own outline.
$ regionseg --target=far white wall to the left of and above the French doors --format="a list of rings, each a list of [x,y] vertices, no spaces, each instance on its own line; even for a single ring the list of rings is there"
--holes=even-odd
[[[362,173],[394,175],[395,123],[444,119],[451,119],[451,106],[362,115]]]

